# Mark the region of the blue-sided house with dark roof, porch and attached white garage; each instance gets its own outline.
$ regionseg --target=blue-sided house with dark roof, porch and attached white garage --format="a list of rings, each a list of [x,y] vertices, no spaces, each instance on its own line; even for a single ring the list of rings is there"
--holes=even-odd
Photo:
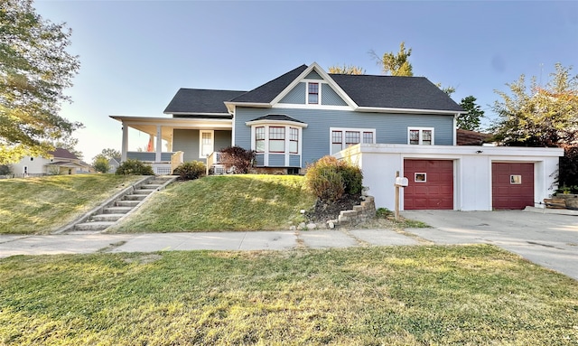
[[[546,190],[554,183],[548,176],[561,155],[541,149],[518,154],[512,148],[492,148],[494,153],[506,153],[494,159],[483,154],[485,147],[473,150],[469,146],[455,152],[459,137],[456,117],[465,112],[428,79],[328,74],[316,63],[302,65],[250,91],[180,89],[164,113],[172,117],[113,117],[123,123],[122,161],[139,158],[166,170],[175,155],[181,154],[184,161],[213,165],[218,161],[216,152],[238,145],[256,151],[256,166],[262,170],[303,173],[307,164],[336,154],[350,157],[362,167],[364,184],[375,195],[378,207],[390,209],[394,207],[395,172],[408,176],[415,170],[420,180],[410,179],[418,183],[406,188],[402,209],[520,208],[519,203],[492,201],[492,193],[499,193],[491,192],[491,183],[483,198],[476,189],[476,195],[463,196],[464,184],[485,186],[462,175],[463,150],[486,157],[477,173],[489,182],[496,171],[492,169],[494,161],[522,161],[531,163],[533,170],[538,167],[532,186],[525,186],[532,190],[531,201],[526,196],[520,202],[534,205],[547,197]],[[155,136],[156,151],[128,152],[128,127]],[[160,150],[163,140],[168,153]],[[528,153],[532,157],[523,156]],[[545,163],[542,171],[540,163]],[[511,168],[507,166],[505,169]],[[445,182],[439,185],[434,178],[441,175]],[[516,176],[512,181],[520,181],[517,171],[509,175]],[[528,179],[522,182],[527,184]]]

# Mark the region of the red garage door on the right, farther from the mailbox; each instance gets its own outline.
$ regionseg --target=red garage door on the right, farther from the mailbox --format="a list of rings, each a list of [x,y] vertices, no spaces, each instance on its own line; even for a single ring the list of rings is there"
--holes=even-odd
[[[492,163],[493,209],[534,206],[534,164]]]

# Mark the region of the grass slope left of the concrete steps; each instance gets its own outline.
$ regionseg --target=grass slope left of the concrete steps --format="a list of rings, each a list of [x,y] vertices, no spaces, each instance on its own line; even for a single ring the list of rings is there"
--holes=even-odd
[[[50,233],[139,179],[79,174],[0,180],[0,233]]]

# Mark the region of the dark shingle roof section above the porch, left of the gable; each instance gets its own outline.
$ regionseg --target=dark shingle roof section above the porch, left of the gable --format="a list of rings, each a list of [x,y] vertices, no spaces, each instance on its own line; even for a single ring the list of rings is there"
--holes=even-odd
[[[172,98],[169,106],[164,109],[164,113],[227,114],[228,110],[224,102],[244,93],[246,91],[181,88]]]

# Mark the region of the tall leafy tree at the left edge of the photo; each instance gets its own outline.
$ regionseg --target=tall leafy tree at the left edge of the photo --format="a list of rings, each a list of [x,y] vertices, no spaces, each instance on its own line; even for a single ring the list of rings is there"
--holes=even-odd
[[[59,116],[79,59],[70,29],[36,14],[32,0],[0,0],[0,164],[47,155],[82,126]]]

